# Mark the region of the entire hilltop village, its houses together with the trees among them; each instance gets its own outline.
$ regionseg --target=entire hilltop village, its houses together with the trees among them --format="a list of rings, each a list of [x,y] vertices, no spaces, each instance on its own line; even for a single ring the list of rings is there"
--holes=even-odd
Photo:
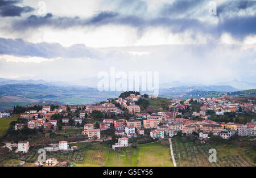
[[[155,95],[124,92],[117,99],[96,104],[17,106],[13,112],[3,115],[18,116],[3,141],[14,142],[10,145],[17,147],[16,152],[26,154],[30,146],[35,145],[46,145],[47,151],[75,150],[78,146],[71,146],[72,143],[101,141],[108,142],[110,149],[122,150],[138,142],[154,142],[176,135],[195,135],[201,142],[211,137],[230,139],[256,135],[254,119],[240,120],[237,116],[245,113],[254,116],[256,106],[252,100],[237,101],[223,95],[166,99],[162,104],[152,104],[159,100]],[[51,139],[39,139],[38,135],[42,134]],[[131,142],[133,139],[138,142]],[[55,158],[36,164],[67,166],[66,162],[59,163]]]

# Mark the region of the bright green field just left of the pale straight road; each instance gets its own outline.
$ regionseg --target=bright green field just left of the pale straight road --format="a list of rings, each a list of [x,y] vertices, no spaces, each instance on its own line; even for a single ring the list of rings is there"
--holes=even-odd
[[[170,147],[160,142],[139,145],[137,149],[127,147],[121,151],[108,149],[96,143],[85,149],[85,160],[76,166],[109,166],[109,167],[150,167],[173,166]]]

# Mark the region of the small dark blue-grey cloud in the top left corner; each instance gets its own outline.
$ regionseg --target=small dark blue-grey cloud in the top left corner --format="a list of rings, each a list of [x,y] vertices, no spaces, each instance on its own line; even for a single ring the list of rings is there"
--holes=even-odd
[[[34,9],[30,6],[20,7],[16,3],[21,1],[0,0],[0,16],[20,16],[22,13],[31,12]]]

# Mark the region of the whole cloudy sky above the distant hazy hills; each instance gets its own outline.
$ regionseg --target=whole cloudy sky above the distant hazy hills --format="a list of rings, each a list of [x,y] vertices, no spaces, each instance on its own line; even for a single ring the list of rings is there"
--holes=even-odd
[[[0,0],[0,77],[89,85],[115,67],[160,82],[255,82],[256,1],[216,0],[216,15],[209,2]]]

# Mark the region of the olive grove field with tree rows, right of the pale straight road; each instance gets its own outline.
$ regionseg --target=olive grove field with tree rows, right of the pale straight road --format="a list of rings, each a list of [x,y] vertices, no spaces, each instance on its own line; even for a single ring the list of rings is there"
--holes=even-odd
[[[177,166],[255,166],[253,160],[256,154],[255,151],[247,150],[243,147],[222,143],[218,145],[200,143],[198,145],[195,142],[186,141],[185,137],[175,137],[172,146]],[[208,161],[210,156],[209,149],[216,149],[216,163]]]

